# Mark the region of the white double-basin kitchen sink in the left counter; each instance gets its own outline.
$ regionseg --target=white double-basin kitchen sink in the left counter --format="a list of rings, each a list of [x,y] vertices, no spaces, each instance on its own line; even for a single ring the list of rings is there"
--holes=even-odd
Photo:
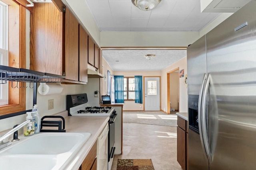
[[[39,133],[0,150],[3,169],[58,170],[75,156],[90,133]]]

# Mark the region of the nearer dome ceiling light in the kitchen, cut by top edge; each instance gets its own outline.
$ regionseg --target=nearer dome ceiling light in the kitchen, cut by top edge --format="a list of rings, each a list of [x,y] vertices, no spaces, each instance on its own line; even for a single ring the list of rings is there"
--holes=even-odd
[[[161,0],[132,0],[132,4],[137,6],[140,10],[149,11],[161,2]]]

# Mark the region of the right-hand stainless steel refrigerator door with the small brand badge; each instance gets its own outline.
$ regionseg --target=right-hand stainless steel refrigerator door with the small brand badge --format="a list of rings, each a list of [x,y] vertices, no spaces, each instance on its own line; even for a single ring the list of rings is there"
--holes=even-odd
[[[255,9],[252,0],[206,34],[210,170],[256,168]]]

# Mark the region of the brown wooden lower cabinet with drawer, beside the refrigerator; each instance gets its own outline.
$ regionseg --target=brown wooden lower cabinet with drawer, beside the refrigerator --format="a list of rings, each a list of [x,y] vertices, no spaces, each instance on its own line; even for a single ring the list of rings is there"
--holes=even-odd
[[[178,116],[177,124],[177,161],[188,170],[188,121]]]

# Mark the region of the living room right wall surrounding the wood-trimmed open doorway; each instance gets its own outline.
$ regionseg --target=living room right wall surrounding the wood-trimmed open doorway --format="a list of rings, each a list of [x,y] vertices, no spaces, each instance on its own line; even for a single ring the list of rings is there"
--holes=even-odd
[[[179,88],[180,88],[180,110],[179,112],[187,112],[188,111],[188,90],[187,86],[184,84],[185,75],[187,74],[187,57],[180,59],[176,63],[168,66],[161,72],[161,109],[167,112],[167,73],[179,68],[179,70],[184,69],[184,77],[179,78]],[[170,103],[169,103],[170,104]]]

